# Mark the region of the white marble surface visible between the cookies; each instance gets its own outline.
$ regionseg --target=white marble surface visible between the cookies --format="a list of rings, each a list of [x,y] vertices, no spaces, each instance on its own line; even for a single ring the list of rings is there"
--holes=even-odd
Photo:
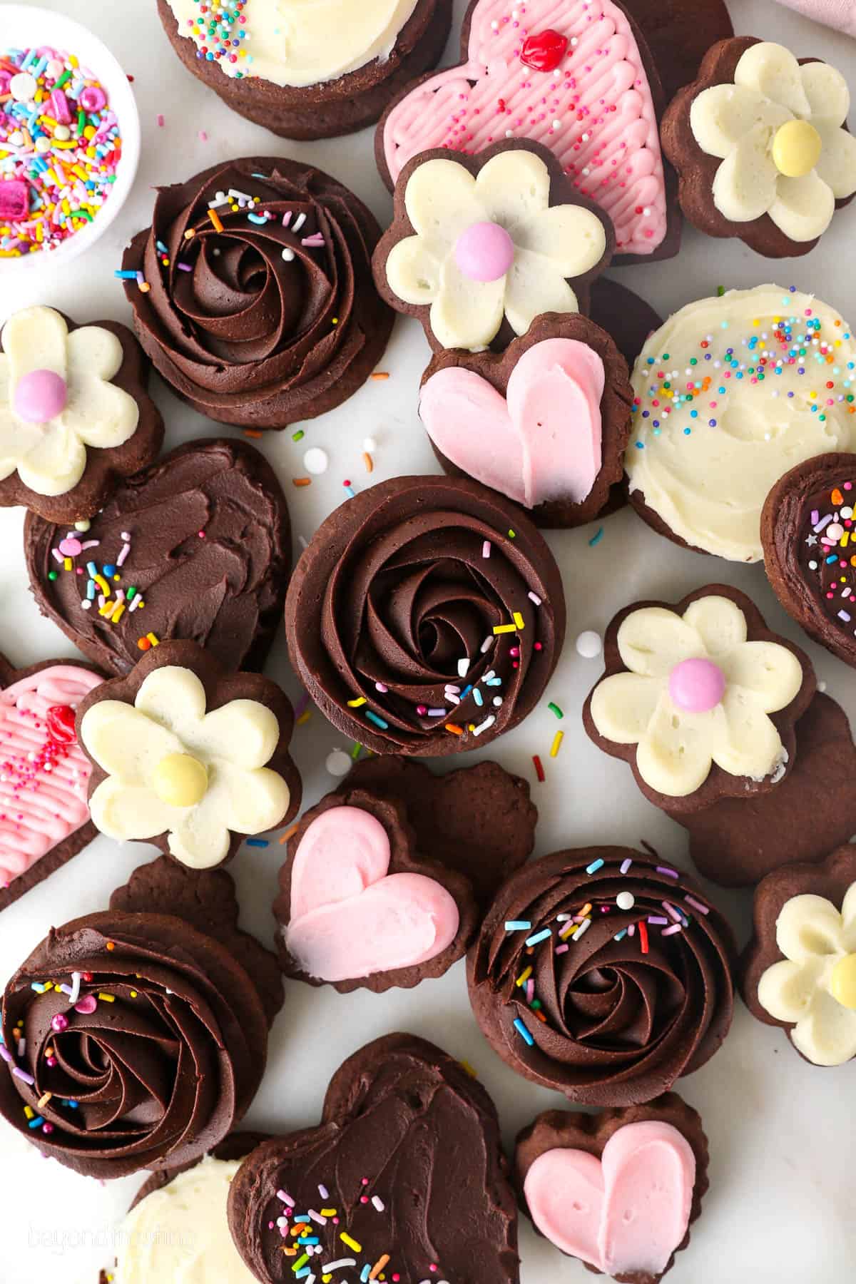
[[[690,0],[692,3],[692,0]],[[703,5],[705,0],[696,0]],[[151,187],[184,180],[216,160],[243,154],[285,154],[311,160],[349,184],[381,222],[390,203],[375,171],[372,135],[313,144],[286,144],[234,116],[189,76],[163,35],[153,0],[55,0],[54,8],[92,26],[135,77],[144,152],[135,191],[104,240],[58,279],[33,273],[14,291],[0,272],[0,309],[5,316],[26,302],[45,302],[78,320],[110,316],[128,320],[113,268],[128,236],[148,225]],[[458,14],[463,9],[459,0]],[[774,0],[733,0],[738,32],[791,42],[802,55],[833,62],[856,86],[856,42],[800,18]],[[454,46],[457,49],[457,45]],[[449,60],[449,58],[447,58]],[[162,113],[164,126],[157,125]],[[204,130],[207,141],[199,136]],[[717,243],[685,232],[680,258],[665,265],[624,268],[620,279],[646,294],[662,312],[720,284],[751,286],[778,279],[812,290],[856,318],[852,273],[856,209],[835,220],[821,245],[806,258],[775,266],[739,241]],[[619,273],[616,273],[619,275]],[[341,482],[362,487],[362,440],[377,440],[373,480],[436,466],[416,415],[418,376],[427,363],[420,326],[399,321],[382,362],[391,377],[370,383],[336,412],[307,425],[295,446],[290,434],[268,434],[262,449],[287,488],[295,533],[309,537],[341,499]],[[168,425],[168,444],[209,431],[159,383],[155,395]],[[226,433],[230,430],[226,429]],[[330,469],[312,485],[295,490],[290,478],[304,473],[307,447],[321,446]],[[0,650],[15,664],[72,654],[47,620],[39,616],[27,589],[21,557],[22,511],[0,512]],[[635,788],[628,768],[598,752],[586,740],[579,711],[599,673],[583,660],[574,638],[583,629],[602,630],[624,603],[640,597],[676,600],[697,586],[721,579],[752,594],[767,621],[807,645],[829,692],[856,715],[852,670],[801,637],[779,609],[761,566],[740,568],[687,553],[660,539],[630,511],[606,523],[603,539],[589,548],[597,528],[551,534],[565,575],[569,645],[548,691],[566,710],[560,758],[547,754],[556,729],[547,701],[485,756],[531,778],[531,754],[547,761],[544,785],[533,785],[540,809],[536,854],[589,842],[653,844],[670,863],[687,864],[681,829],[652,808]],[[284,639],[268,672],[295,693]],[[320,714],[300,728],[294,754],[303,773],[307,804],[334,781],[325,769],[341,737]],[[344,745],[344,747],[349,747]],[[480,755],[472,755],[477,758]],[[5,980],[53,923],[101,908],[110,890],[151,855],[144,845],[117,847],[100,840],[3,914],[0,977]],[[234,863],[243,923],[270,940],[270,903],[276,883],[277,846],[246,849]],[[746,939],[751,898],[707,889]],[[508,1144],[539,1111],[562,1099],[515,1076],[484,1043],[470,1014],[463,966],[440,981],[413,991],[382,996],[287,986],[285,1009],[273,1027],[264,1082],[248,1124],[271,1130],[304,1126],[317,1118],[325,1086],[344,1057],[364,1041],[391,1030],[411,1030],[467,1058],[499,1108]],[[692,1244],[669,1276],[670,1284],[847,1284],[856,1276],[853,1174],[853,1093],[856,1066],[817,1070],[801,1061],[784,1035],[753,1021],[738,1004],[724,1048],[684,1080],[679,1090],[703,1116],[711,1143],[711,1189]],[[98,1269],[110,1263],[114,1229],[139,1179],[99,1185],[40,1158],[10,1129],[0,1130],[4,1159],[0,1189],[0,1279],[6,1284],[94,1284]],[[466,1228],[462,1228],[466,1234]],[[536,1239],[521,1220],[522,1284],[588,1280],[581,1265]],[[459,1284],[459,1281],[453,1281]]]

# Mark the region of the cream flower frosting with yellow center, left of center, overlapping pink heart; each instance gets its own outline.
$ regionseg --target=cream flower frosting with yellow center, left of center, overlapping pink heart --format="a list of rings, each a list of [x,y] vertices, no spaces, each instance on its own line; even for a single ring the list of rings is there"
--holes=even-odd
[[[191,669],[155,668],[133,706],[91,705],[81,738],[107,773],[90,799],[98,828],[119,840],[166,832],[172,855],[193,868],[219,864],[231,833],[271,829],[289,810],[289,786],[264,765],[280,740],[276,715],[257,700],[205,713],[205,690]]]

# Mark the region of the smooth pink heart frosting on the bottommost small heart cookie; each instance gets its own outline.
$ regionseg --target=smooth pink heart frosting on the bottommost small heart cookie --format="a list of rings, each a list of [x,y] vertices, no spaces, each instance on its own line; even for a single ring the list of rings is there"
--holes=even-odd
[[[545,1150],[524,1193],[533,1221],[562,1252],[607,1275],[661,1275],[687,1234],[694,1184],[687,1138],[651,1120],[617,1129],[599,1159]]]

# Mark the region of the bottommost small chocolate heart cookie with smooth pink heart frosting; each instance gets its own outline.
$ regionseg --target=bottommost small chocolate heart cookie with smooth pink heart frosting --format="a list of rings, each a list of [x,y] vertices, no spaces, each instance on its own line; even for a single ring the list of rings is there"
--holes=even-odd
[[[676,1093],[648,1106],[545,1111],[517,1138],[515,1177],[535,1229],[589,1270],[657,1284],[702,1211],[707,1138]]]

